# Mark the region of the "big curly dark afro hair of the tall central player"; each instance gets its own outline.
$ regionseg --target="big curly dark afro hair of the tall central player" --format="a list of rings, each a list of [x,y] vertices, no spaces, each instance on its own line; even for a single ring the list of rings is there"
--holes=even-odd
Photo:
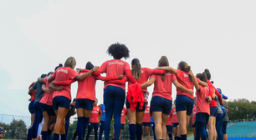
[[[129,49],[125,46],[125,44],[121,44],[119,42],[113,43],[107,50],[110,56],[113,56],[114,59],[121,59],[124,57],[125,59],[130,57]]]

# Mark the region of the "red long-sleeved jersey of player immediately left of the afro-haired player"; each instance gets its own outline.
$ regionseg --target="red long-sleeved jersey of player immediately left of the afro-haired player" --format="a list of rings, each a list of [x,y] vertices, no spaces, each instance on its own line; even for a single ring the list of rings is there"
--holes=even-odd
[[[79,75],[84,74],[85,72],[79,72]],[[85,99],[90,99],[95,101],[95,85],[96,85],[96,80],[116,80],[117,77],[101,77],[99,76],[94,76],[90,75],[82,81],[78,81],[78,89],[77,89],[77,94],[76,98],[85,98]]]

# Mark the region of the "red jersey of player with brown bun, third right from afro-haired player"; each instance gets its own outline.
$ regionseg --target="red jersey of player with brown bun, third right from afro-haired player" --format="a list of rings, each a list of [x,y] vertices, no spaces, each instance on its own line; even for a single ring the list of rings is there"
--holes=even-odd
[[[193,82],[190,81],[190,78],[188,76],[188,72],[183,72],[182,70],[177,69],[177,82],[182,84],[183,87],[186,87],[187,89],[194,89]],[[197,78],[197,82],[199,83],[200,80]],[[186,95],[187,97],[190,97],[194,99],[193,95],[190,95],[188,92],[183,92],[179,88],[177,88],[177,95]]]

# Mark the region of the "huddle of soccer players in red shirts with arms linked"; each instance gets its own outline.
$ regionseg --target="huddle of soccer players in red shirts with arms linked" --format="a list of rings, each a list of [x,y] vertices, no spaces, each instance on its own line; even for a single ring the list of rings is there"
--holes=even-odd
[[[33,82],[28,91],[31,95],[29,111],[33,122],[28,130],[28,139],[37,138],[38,125],[43,117],[44,125],[41,131],[43,140],[46,140],[52,131],[54,131],[54,140],[59,137],[62,140],[67,139],[65,116],[70,109],[70,86],[75,81],[78,82],[74,107],[78,116],[76,131],[79,140],[84,138],[88,125],[90,126],[89,135],[92,128],[95,130],[99,128],[98,114],[101,113],[102,106],[105,107],[105,121],[104,127],[100,125],[100,128],[104,130],[105,140],[110,139],[110,122],[113,115],[115,133],[112,139],[120,139],[124,104],[129,118],[131,140],[141,140],[144,128],[148,136],[148,127],[151,124],[149,114],[146,114],[148,112],[152,117],[150,122],[153,121],[156,139],[166,139],[166,133],[172,138],[172,127],[176,139],[187,139],[187,121],[192,115],[195,102],[194,87],[197,97],[194,119],[195,139],[223,139],[223,128],[220,131],[219,127],[223,126],[221,123],[224,113],[221,108],[223,96],[220,89],[216,89],[210,82],[211,74],[207,69],[195,76],[187,62],[179,62],[175,69],[169,67],[165,56],[160,58],[156,69],[141,67],[138,58],[132,60],[130,67],[128,62],[121,60],[121,58],[130,57],[130,51],[125,44],[118,42],[111,44],[107,53],[113,59],[103,62],[100,67],[94,67],[91,62],[87,62],[85,69],[79,68],[75,71],[76,61],[74,57],[69,57],[64,62],[64,67],[59,65],[55,67],[54,72],[42,74],[37,82]],[[100,73],[104,72],[106,77],[101,77]],[[104,104],[100,107],[97,106],[95,93],[96,80],[105,81]],[[128,82],[127,94],[125,82]],[[147,107],[145,98],[150,93],[147,87],[153,83],[151,105]],[[172,83],[177,88],[175,107],[172,107]],[[99,93],[97,95],[100,96]],[[177,119],[174,118],[176,116]],[[101,121],[100,123],[102,124]],[[206,126],[208,133],[206,133]],[[95,138],[97,138],[96,135]]]

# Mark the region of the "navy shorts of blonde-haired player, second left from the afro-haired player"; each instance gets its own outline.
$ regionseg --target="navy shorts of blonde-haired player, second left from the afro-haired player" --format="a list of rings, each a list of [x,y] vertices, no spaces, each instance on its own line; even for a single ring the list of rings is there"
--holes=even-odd
[[[63,96],[59,96],[59,97],[54,97],[53,98],[53,107],[54,110],[58,110],[59,107],[70,107],[70,100],[68,97],[63,97]]]

